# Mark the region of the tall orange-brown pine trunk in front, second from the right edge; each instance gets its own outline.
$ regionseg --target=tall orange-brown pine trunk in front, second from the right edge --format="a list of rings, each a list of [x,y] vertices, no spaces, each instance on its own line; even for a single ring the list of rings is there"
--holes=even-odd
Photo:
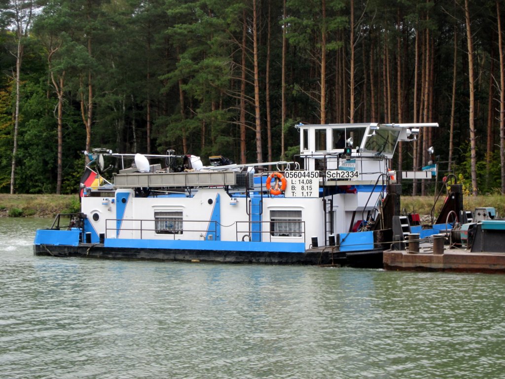
[[[468,47],[468,82],[470,86],[470,109],[469,109],[469,124],[470,124],[470,159],[471,159],[471,175],[472,175],[472,194],[477,196],[477,156],[475,147],[475,89],[474,89],[474,66],[473,66],[473,41],[472,31],[470,27],[470,10],[468,8],[468,0],[465,0],[465,23],[467,29],[467,47]]]

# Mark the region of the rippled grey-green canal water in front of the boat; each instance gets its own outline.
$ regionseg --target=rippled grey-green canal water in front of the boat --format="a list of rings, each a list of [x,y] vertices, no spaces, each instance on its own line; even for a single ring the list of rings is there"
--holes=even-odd
[[[0,218],[0,377],[505,377],[505,275],[34,257]]]

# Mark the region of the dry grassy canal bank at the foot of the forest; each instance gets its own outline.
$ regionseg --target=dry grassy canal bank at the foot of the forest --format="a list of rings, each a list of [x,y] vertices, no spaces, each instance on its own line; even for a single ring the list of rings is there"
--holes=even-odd
[[[435,215],[443,204],[439,199]],[[421,215],[429,215],[433,207],[432,196],[402,196],[401,208]],[[499,216],[505,216],[505,197],[499,195],[465,197],[464,207],[473,211],[477,207],[494,207]],[[79,211],[77,195],[8,195],[0,194],[0,216],[54,217],[58,213]]]

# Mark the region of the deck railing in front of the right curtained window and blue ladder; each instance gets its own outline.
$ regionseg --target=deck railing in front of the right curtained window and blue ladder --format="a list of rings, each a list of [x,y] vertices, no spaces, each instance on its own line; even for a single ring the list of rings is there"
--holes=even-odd
[[[236,221],[236,240],[272,242],[276,239],[297,239],[306,242],[305,221]],[[265,238],[266,237],[266,238]]]

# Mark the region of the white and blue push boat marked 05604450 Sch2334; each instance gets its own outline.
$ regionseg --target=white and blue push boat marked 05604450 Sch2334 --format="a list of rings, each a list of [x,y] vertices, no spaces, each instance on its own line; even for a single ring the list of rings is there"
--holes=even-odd
[[[81,212],[38,229],[34,254],[383,267],[383,251],[403,239],[401,226],[394,231],[399,185],[389,162],[398,141],[437,126],[299,124],[292,162],[239,165],[213,156],[204,166],[172,150],[84,152]],[[118,172],[109,181],[114,166],[104,162],[113,158]]]

